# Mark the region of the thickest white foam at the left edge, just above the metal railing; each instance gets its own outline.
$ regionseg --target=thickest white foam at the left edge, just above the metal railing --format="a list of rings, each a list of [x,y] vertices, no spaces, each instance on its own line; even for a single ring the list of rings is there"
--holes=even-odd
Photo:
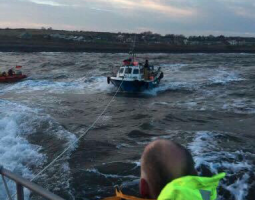
[[[40,146],[29,144],[25,139],[29,135],[29,130],[24,130],[25,126],[21,127],[19,121],[22,118],[23,112],[31,111],[28,107],[19,105],[18,112],[14,111],[13,105],[6,101],[0,101],[0,164],[15,173],[22,175],[27,179],[33,178],[31,168],[37,168],[42,165],[46,157],[39,153]],[[2,180],[0,187],[3,188]],[[15,184],[8,182],[8,187],[13,194]],[[28,199],[28,191],[26,199]],[[6,193],[4,190],[0,192],[0,199],[5,199]]]

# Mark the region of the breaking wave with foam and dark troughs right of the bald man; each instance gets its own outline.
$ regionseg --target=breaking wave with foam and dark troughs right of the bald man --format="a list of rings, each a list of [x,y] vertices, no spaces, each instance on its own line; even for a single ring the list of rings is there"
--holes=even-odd
[[[237,143],[235,147],[242,145],[241,139],[235,137],[199,131],[195,133],[188,147],[194,155],[196,168],[200,174],[226,172],[226,178],[220,185],[221,198],[250,199],[255,185],[255,168],[252,164],[255,154],[229,147],[224,148],[223,143]]]

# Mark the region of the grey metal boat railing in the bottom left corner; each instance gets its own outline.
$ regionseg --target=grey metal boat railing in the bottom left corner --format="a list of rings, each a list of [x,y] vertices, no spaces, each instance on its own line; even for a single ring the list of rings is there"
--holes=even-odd
[[[7,193],[8,200],[24,200],[24,187],[30,190],[32,193],[37,194],[43,198],[48,200],[64,200],[63,198],[47,191],[46,189],[42,188],[41,186],[26,180],[25,178],[12,173],[11,171],[5,169],[4,167],[0,166],[0,174],[2,176],[3,185],[5,187]],[[8,189],[8,185],[6,183],[5,177],[9,178],[10,180],[16,183],[16,193],[12,196]],[[1,189],[0,189],[1,190]],[[17,198],[16,198],[17,197]]]

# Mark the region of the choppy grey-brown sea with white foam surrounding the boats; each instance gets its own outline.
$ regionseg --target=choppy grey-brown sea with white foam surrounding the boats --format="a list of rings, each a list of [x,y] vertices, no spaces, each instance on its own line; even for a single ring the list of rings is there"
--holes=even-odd
[[[29,75],[0,85],[0,164],[31,179],[102,112],[115,91],[105,76],[127,55],[0,55],[1,70],[19,64]],[[36,182],[66,199],[100,199],[115,185],[137,195],[141,152],[165,138],[191,150],[200,174],[227,173],[220,199],[254,200],[255,55],[138,56],[162,67],[161,85],[118,94],[89,135]]]

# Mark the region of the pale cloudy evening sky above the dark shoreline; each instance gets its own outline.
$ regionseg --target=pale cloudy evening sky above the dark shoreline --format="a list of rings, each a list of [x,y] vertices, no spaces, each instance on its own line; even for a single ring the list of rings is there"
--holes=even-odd
[[[255,0],[0,0],[0,28],[255,36]]]

